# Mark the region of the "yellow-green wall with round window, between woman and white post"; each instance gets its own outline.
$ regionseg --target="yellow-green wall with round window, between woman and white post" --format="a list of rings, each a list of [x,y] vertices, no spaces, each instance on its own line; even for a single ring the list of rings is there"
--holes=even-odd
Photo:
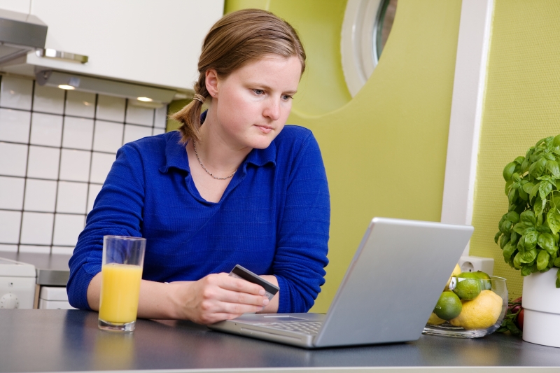
[[[225,5],[226,12],[259,6],[283,17],[298,29],[309,55],[309,75],[288,122],[314,132],[330,187],[330,264],[316,312],[328,309],[373,216],[440,220],[461,13],[460,0],[400,0],[379,65],[349,99],[339,54],[345,5],[343,0]]]

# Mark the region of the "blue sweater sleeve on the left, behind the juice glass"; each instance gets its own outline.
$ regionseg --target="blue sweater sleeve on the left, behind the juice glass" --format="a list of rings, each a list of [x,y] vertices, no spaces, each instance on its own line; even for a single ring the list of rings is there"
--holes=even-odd
[[[66,292],[72,307],[90,309],[87,287],[93,276],[101,272],[103,237],[141,237],[144,190],[141,157],[136,149],[125,145],[118,150],[69,261]]]

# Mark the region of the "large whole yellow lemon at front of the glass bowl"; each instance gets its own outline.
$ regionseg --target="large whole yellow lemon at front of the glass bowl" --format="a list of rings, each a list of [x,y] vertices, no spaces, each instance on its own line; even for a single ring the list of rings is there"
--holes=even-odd
[[[467,330],[490,328],[498,321],[502,305],[499,295],[491,290],[482,290],[474,300],[463,301],[461,314],[449,323]]]

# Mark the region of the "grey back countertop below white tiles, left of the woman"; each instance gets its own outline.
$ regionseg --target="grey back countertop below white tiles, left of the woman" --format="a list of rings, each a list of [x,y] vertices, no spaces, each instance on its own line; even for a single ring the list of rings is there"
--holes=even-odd
[[[66,286],[70,276],[68,260],[71,255],[0,252],[0,258],[34,265],[39,285]]]

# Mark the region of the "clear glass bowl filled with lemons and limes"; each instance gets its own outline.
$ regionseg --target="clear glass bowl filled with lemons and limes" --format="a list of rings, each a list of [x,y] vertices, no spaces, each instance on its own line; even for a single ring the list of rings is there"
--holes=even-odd
[[[486,279],[465,279],[461,275],[449,279],[423,334],[478,338],[500,328],[507,311],[505,279],[487,275]]]

